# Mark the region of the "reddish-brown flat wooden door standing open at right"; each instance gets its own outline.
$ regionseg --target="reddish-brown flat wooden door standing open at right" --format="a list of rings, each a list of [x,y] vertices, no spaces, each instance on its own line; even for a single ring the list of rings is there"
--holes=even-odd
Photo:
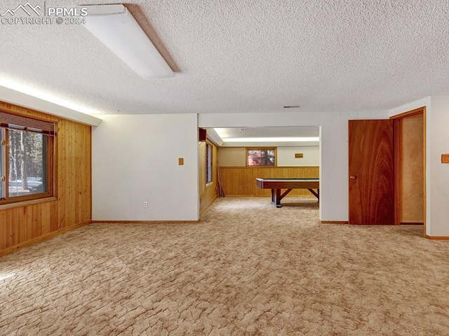
[[[393,120],[349,120],[349,223],[394,224]]]

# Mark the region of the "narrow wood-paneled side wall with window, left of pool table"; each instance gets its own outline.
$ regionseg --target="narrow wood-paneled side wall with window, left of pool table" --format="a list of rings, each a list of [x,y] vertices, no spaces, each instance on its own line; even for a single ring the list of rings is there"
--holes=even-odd
[[[212,146],[212,182],[206,185],[206,141],[199,142],[199,210],[206,209],[217,198],[217,146]]]

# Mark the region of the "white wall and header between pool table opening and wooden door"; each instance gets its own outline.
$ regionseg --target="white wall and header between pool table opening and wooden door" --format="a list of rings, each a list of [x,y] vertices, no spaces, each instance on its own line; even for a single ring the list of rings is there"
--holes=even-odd
[[[320,218],[348,220],[348,120],[389,118],[388,111],[302,113],[210,113],[199,127],[321,126]]]

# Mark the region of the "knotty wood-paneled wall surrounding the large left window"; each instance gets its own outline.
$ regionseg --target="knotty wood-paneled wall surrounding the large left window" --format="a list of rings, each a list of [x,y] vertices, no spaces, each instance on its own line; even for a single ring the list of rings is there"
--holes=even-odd
[[[3,102],[0,109],[58,123],[55,198],[0,209],[0,255],[5,255],[91,223],[91,126]]]

